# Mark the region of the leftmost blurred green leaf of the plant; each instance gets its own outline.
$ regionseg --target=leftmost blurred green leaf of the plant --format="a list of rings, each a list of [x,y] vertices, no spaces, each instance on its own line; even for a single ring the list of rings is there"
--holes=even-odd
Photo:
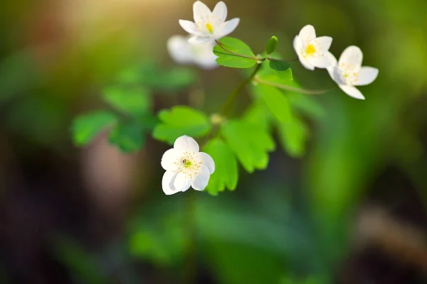
[[[85,146],[93,141],[102,129],[116,122],[117,116],[110,111],[94,111],[77,116],[71,126],[73,142],[76,146]]]

